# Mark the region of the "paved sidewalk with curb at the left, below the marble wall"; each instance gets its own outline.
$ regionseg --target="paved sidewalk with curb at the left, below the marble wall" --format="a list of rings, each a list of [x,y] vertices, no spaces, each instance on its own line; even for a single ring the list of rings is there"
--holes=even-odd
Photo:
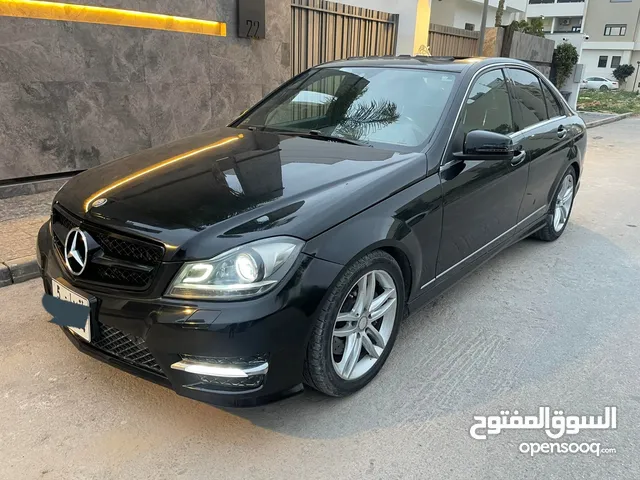
[[[35,248],[55,192],[0,199],[0,287],[38,276]]]

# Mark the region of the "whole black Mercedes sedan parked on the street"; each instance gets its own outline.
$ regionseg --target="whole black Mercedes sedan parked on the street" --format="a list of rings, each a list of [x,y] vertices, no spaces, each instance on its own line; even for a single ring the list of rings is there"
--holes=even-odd
[[[83,352],[226,406],[369,383],[403,318],[567,226],[586,149],[507,58],[312,68],[228,127],[87,170],[38,236]]]

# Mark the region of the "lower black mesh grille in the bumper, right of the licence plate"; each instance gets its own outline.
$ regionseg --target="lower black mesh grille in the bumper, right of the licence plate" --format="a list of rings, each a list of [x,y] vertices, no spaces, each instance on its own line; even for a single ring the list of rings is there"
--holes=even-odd
[[[97,339],[91,344],[95,348],[124,360],[133,366],[145,368],[163,377],[165,376],[155,357],[140,337],[128,335],[117,328],[98,322]]]

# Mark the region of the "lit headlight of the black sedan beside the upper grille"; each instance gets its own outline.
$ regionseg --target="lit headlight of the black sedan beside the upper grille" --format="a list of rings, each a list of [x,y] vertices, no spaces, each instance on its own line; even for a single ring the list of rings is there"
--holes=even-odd
[[[255,297],[282,280],[303,244],[297,238],[273,237],[236,247],[211,260],[185,263],[167,295],[205,300]]]

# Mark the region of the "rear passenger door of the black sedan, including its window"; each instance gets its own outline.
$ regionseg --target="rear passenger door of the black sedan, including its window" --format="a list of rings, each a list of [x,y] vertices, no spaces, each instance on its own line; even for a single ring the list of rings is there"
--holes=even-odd
[[[565,108],[546,82],[527,69],[509,68],[509,90],[516,110],[514,143],[527,152],[529,179],[518,222],[535,223],[550,208],[550,196],[567,168],[573,129]]]

